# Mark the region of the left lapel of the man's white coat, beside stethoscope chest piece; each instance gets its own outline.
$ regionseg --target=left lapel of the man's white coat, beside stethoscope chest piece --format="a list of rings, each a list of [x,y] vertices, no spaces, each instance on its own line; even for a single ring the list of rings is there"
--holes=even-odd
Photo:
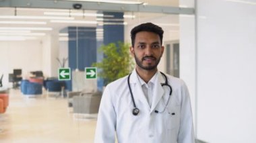
[[[141,102],[143,105],[146,105],[146,107],[150,110],[148,100],[146,99],[146,96],[144,95],[141,88],[141,83],[139,83],[139,79],[137,78],[136,70],[133,70],[133,72],[131,73],[130,84],[131,91],[133,91],[134,101],[137,107],[139,107],[138,103]]]

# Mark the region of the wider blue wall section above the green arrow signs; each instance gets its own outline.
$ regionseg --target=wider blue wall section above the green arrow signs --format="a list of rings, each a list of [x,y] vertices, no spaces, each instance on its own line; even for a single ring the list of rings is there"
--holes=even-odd
[[[69,27],[69,67],[84,70],[96,62],[96,28]],[[71,85],[71,81],[69,83]],[[68,89],[71,91],[71,86]]]

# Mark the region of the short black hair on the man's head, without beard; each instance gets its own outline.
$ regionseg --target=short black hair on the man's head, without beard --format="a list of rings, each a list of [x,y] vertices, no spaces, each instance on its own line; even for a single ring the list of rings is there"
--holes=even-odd
[[[139,26],[135,26],[131,30],[131,45],[133,47],[135,42],[135,36],[138,32],[153,32],[155,34],[158,34],[161,40],[161,45],[162,45],[162,37],[164,34],[164,30],[162,30],[161,27],[156,26],[154,23],[148,22],[148,23],[141,23]]]

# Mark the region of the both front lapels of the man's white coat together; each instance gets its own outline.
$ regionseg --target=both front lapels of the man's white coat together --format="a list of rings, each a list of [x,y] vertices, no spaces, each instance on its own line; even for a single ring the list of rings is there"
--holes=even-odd
[[[134,90],[132,90],[134,99],[138,99],[139,101],[141,101],[143,103],[143,105],[147,105],[148,109],[150,109],[150,113],[152,113],[152,111],[154,111],[154,109],[156,108],[156,105],[158,105],[158,102],[164,95],[164,89],[162,88],[162,85],[161,85],[161,83],[164,83],[164,82],[165,82],[164,77],[162,77],[161,73],[158,71],[157,77],[156,77],[156,83],[154,84],[154,86],[156,86],[156,87],[154,87],[155,89],[154,89],[154,93],[153,93],[152,106],[150,109],[148,100],[146,99],[146,97],[142,91],[141,83],[139,82],[139,79],[137,78],[137,72],[134,69],[133,72],[131,73],[131,78],[130,78],[131,87],[134,88]],[[135,101],[135,103],[138,103],[138,102]]]

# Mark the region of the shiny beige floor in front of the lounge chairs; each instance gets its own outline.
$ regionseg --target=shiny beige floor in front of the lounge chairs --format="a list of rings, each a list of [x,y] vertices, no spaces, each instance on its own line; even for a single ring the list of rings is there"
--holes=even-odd
[[[19,90],[11,90],[9,98],[0,114],[0,142],[93,142],[96,119],[73,118],[67,99],[28,98]]]

